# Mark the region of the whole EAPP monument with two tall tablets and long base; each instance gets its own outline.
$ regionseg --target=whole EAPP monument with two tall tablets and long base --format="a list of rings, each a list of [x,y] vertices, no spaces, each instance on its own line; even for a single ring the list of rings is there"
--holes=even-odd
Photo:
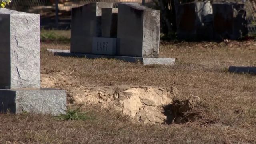
[[[97,2],[72,9],[71,50],[48,51],[60,56],[174,65],[175,58],[158,58],[159,42],[159,10],[136,3],[118,3],[116,9],[112,3]]]

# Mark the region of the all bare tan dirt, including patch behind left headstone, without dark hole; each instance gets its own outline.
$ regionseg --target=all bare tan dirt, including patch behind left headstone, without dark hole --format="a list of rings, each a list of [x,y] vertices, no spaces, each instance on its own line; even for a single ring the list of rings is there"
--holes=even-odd
[[[132,119],[150,124],[166,122],[164,107],[172,104],[177,95],[176,88],[161,88],[152,86],[104,86],[104,87],[74,87],[72,76],[56,74],[41,76],[42,87],[54,88],[61,85],[66,90],[71,102],[76,104],[100,104],[130,116]],[[70,98],[71,97],[71,98]]]

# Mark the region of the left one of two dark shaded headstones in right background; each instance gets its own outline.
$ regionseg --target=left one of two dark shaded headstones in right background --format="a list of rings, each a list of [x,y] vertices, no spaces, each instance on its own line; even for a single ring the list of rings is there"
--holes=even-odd
[[[213,14],[210,2],[178,4],[175,10],[178,39],[213,39]]]

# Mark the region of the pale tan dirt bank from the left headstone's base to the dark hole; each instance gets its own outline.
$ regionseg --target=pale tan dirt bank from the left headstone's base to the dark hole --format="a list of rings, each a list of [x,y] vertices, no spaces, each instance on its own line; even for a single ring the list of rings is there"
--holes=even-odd
[[[150,86],[84,87],[83,96],[74,96],[80,104],[101,104],[114,108],[143,123],[164,123],[163,107],[172,104],[176,89]]]

